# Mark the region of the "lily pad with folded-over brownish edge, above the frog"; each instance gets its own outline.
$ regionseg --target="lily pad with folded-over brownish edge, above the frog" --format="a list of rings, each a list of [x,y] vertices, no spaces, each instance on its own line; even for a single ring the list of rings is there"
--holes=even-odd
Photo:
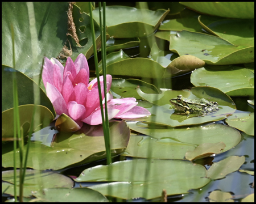
[[[172,76],[189,73],[205,65],[203,60],[194,56],[187,55],[179,57],[172,52],[164,52],[158,48],[156,43],[151,48],[150,59],[167,68],[166,77],[170,73]]]

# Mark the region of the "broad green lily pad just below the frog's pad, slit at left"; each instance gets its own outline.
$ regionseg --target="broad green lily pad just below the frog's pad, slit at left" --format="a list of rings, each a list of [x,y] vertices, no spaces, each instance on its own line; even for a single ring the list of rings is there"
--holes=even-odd
[[[124,156],[155,159],[184,159],[187,151],[194,151],[205,143],[225,143],[225,152],[241,141],[241,134],[226,125],[210,124],[189,128],[171,128],[127,122],[131,130],[149,136],[131,136]],[[150,151],[154,150],[154,151]],[[207,157],[209,155],[204,155]]]

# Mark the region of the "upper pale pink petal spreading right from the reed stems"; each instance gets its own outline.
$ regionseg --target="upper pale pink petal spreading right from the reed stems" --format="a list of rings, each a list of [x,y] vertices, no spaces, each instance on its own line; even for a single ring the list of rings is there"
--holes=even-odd
[[[130,111],[130,109],[134,108],[138,104],[135,101],[136,99],[133,97],[125,99],[112,99],[108,102],[108,108],[109,106],[111,106],[114,109],[120,110],[117,116],[115,116],[115,118],[117,118],[120,115],[126,113],[127,111]]]

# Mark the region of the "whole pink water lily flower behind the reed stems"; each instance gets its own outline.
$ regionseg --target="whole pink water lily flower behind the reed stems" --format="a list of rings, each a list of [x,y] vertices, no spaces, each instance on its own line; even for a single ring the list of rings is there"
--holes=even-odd
[[[64,113],[80,128],[82,122],[89,125],[102,124],[97,79],[89,83],[89,66],[84,54],[79,54],[75,63],[68,57],[65,68],[57,59],[45,58],[42,78],[57,117]],[[103,76],[100,76],[100,84],[104,99]],[[106,75],[106,84],[109,91],[112,84],[112,76],[109,74]],[[113,99],[109,95],[107,104],[109,120],[129,120],[151,114],[147,109],[137,107],[135,98]]]

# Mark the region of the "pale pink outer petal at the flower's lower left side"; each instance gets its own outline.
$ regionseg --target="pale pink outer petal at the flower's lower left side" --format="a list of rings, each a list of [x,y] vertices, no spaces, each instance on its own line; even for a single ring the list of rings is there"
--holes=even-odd
[[[47,92],[47,96],[49,97],[49,100],[51,100],[52,102],[52,105],[56,113],[59,115],[61,115],[62,113],[65,113],[68,115],[68,109],[67,109],[65,100],[63,99],[63,96],[60,94],[57,88],[47,82],[46,92]]]

